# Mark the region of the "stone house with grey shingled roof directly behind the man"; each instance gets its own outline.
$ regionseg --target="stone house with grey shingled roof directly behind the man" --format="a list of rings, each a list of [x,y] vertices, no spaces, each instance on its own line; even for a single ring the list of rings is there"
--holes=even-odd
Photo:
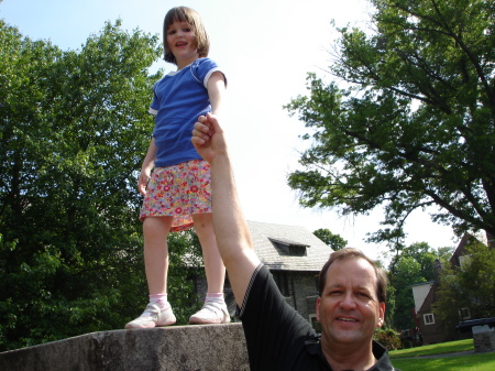
[[[256,221],[248,221],[248,227],[257,257],[270,269],[287,303],[319,330],[316,321],[318,275],[333,250],[304,227]],[[206,281],[195,280],[195,286],[202,301]],[[224,294],[233,315],[235,302],[228,282]]]

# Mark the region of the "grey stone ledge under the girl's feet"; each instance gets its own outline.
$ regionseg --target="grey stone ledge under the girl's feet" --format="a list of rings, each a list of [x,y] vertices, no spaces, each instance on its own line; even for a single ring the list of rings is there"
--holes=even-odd
[[[248,371],[240,323],[113,330],[0,353],[2,371]]]

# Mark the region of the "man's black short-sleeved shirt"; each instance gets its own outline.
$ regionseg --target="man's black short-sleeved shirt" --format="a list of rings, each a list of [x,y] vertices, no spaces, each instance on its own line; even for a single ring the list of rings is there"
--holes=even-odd
[[[242,308],[242,320],[251,370],[331,370],[311,325],[288,305],[266,266],[253,273]],[[378,360],[370,371],[393,371],[388,353],[373,341]],[[397,370],[398,371],[398,370]]]

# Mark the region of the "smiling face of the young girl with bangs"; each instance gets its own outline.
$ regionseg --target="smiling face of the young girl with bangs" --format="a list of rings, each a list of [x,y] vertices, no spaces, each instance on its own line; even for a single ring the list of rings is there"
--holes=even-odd
[[[196,36],[187,22],[174,22],[167,30],[167,44],[177,61],[177,67],[184,68],[199,58]]]

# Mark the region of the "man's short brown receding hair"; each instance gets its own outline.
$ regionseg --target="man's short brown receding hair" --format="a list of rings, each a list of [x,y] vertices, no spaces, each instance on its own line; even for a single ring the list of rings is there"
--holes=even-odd
[[[346,259],[364,259],[373,266],[376,274],[376,296],[380,303],[385,303],[387,299],[387,275],[385,271],[376,265],[376,263],[367,258],[361,250],[354,248],[345,248],[334,251],[330,254],[330,258],[320,271],[318,283],[319,295],[321,296],[323,294],[324,285],[327,284],[327,273],[330,269],[330,265],[336,261],[342,261]]]

